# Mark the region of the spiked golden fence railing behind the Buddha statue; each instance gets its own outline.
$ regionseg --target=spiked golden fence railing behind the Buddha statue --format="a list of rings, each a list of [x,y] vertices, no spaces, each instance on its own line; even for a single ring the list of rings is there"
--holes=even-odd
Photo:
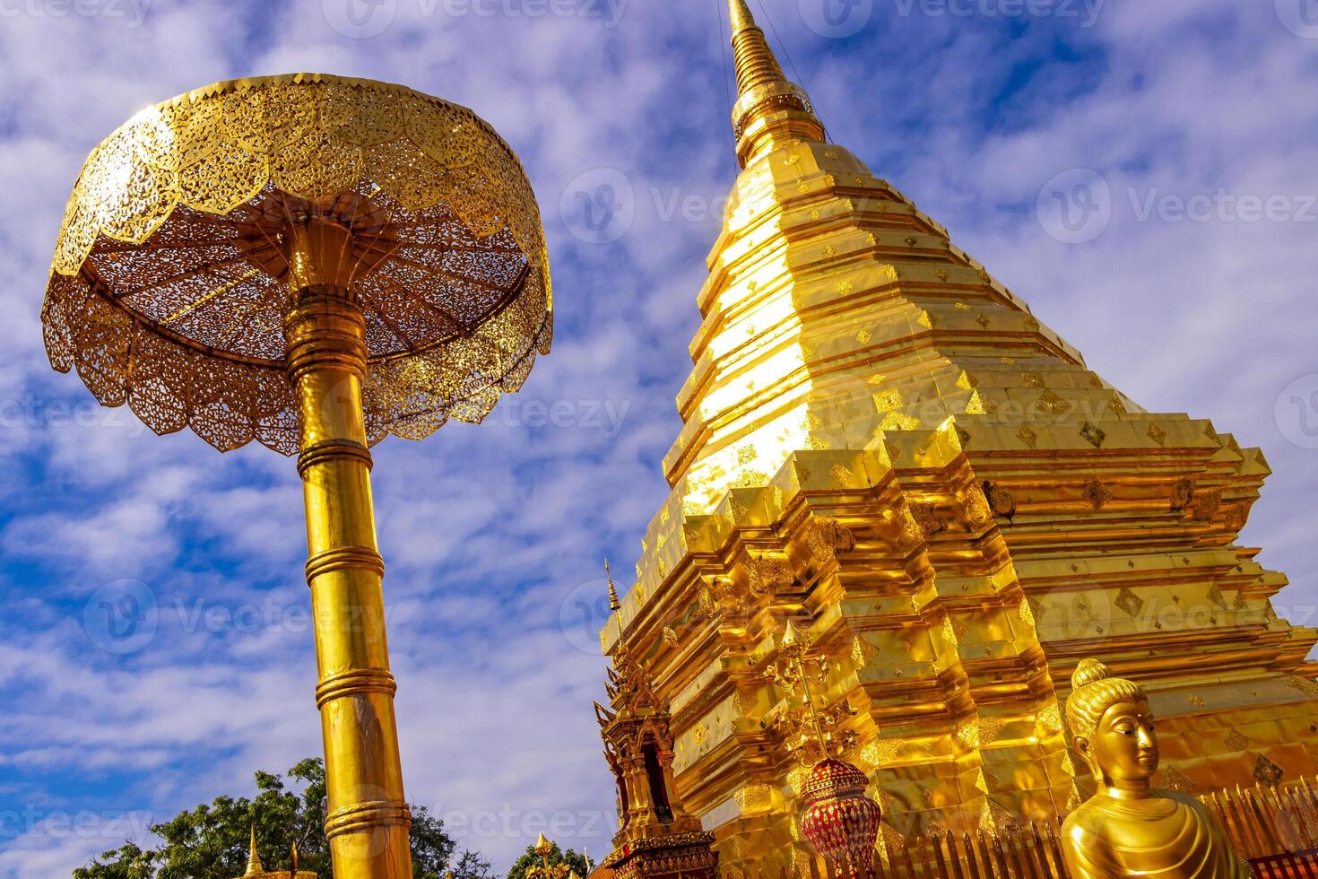
[[[1238,787],[1199,799],[1222,821],[1236,853],[1257,879],[1318,879],[1318,779],[1285,785]],[[1061,828],[1027,824],[1012,832],[913,837],[874,855],[855,879],[1069,879]],[[845,867],[813,858],[809,879],[849,879]],[[780,878],[786,879],[786,876]]]

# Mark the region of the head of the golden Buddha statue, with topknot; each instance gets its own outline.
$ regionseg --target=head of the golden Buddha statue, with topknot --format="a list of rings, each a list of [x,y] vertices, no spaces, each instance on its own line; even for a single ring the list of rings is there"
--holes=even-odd
[[[1159,755],[1144,688],[1114,676],[1097,659],[1081,660],[1072,687],[1066,700],[1072,745],[1094,778],[1108,789],[1148,789]]]

